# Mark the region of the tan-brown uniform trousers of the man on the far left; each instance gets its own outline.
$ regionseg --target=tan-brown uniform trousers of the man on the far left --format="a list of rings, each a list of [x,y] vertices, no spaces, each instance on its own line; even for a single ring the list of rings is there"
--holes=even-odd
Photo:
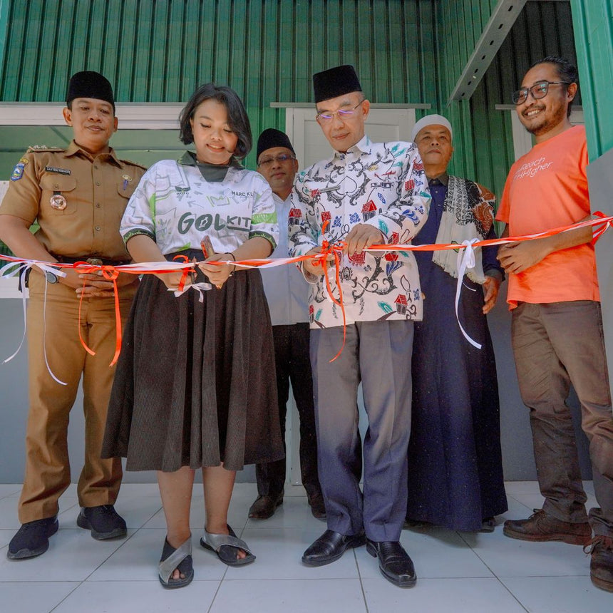
[[[127,319],[138,282],[120,292],[122,323]],[[26,475],[19,499],[21,523],[53,517],[58,499],[71,483],[68,460],[68,418],[83,376],[85,461],[78,480],[83,507],[112,505],[117,499],[122,470],[119,458],[101,460],[106,411],[115,367],[115,303],[113,298],[79,300],[63,284],[47,284],[33,272],[29,282],[28,350],[30,408],[26,429]],[[81,345],[96,352],[91,356]],[[57,383],[49,374],[66,383]]]

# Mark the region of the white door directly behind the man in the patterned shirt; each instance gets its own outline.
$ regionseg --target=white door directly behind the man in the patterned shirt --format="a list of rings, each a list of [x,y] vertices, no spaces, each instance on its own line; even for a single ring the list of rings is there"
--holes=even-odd
[[[373,108],[366,120],[366,134],[374,143],[390,140],[411,140],[411,130],[415,125],[414,108]],[[294,145],[299,168],[306,168],[319,160],[331,157],[331,147],[315,120],[315,105],[311,108],[287,108],[285,112],[285,132]],[[330,393],[334,393],[333,390]],[[362,440],[366,433],[368,420],[364,410],[361,387],[358,392],[360,432]],[[300,433],[299,415],[292,393],[289,394],[287,410],[286,443],[287,474],[292,485],[301,485],[300,476]]]

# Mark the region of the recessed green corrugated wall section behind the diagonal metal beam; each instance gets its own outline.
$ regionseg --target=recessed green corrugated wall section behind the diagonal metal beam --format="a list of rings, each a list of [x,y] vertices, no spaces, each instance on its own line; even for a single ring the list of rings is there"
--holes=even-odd
[[[446,105],[470,53],[498,1],[441,0],[437,3],[439,110],[454,133],[453,171],[475,178],[500,197],[514,160],[509,113],[510,94],[527,68],[547,55],[575,61],[569,2],[528,1],[498,55],[469,101]]]

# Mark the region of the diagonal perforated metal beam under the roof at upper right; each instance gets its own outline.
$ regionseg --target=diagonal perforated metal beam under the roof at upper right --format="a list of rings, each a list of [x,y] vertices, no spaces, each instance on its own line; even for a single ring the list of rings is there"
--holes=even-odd
[[[454,100],[468,100],[473,95],[525,4],[526,0],[500,0],[455,83],[447,105]]]

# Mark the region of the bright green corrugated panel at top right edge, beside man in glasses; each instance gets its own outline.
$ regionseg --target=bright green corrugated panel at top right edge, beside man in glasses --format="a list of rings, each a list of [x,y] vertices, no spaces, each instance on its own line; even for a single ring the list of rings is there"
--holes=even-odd
[[[613,148],[613,0],[572,0],[589,160]]]

